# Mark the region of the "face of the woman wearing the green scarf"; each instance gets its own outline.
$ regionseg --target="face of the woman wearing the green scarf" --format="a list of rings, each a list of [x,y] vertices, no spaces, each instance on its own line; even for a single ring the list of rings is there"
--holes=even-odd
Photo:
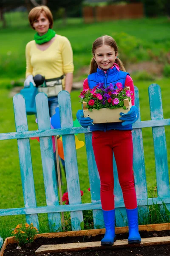
[[[44,35],[48,32],[50,22],[44,13],[40,14],[37,20],[34,21],[33,27],[38,32],[39,35]]]

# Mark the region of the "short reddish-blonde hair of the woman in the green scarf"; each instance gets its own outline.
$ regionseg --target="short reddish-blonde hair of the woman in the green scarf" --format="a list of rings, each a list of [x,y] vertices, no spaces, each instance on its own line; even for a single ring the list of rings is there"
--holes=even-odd
[[[31,27],[34,29],[33,23],[35,20],[37,20],[40,17],[41,13],[43,13],[48,18],[49,23],[50,23],[49,29],[52,29],[53,15],[47,6],[37,6],[37,7],[34,7],[33,9],[31,9],[31,11],[28,14],[28,20],[29,20]]]

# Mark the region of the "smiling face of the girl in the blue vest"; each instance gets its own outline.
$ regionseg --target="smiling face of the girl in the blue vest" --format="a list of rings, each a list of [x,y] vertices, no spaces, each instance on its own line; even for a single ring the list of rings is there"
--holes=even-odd
[[[104,70],[111,68],[115,62],[117,54],[109,45],[103,44],[101,47],[96,48],[94,59],[99,67]]]

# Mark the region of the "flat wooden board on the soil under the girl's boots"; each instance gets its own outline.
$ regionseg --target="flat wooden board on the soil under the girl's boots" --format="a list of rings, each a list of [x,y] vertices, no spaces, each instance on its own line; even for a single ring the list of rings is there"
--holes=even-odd
[[[74,252],[82,250],[115,250],[118,248],[127,247],[144,247],[144,246],[154,246],[161,244],[170,244],[170,236],[163,237],[151,237],[141,239],[140,244],[128,244],[127,239],[117,240],[114,242],[113,246],[101,246],[101,242],[86,242],[86,243],[71,243],[71,244],[44,244],[40,246],[36,251],[35,255],[42,253],[62,253],[62,252]]]

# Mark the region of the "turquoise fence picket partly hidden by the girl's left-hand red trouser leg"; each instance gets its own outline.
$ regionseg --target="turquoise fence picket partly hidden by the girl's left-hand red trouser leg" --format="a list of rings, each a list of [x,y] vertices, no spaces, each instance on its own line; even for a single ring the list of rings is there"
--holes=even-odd
[[[94,203],[101,204],[100,177],[99,177],[99,172],[97,170],[96,161],[94,157],[91,136],[92,136],[91,133],[85,134],[85,146],[86,146],[88,173],[89,173],[89,181],[90,181],[90,189],[91,189],[91,202],[92,204]],[[102,210],[99,210],[99,209],[93,210],[93,218],[94,218],[95,229],[105,227]]]

